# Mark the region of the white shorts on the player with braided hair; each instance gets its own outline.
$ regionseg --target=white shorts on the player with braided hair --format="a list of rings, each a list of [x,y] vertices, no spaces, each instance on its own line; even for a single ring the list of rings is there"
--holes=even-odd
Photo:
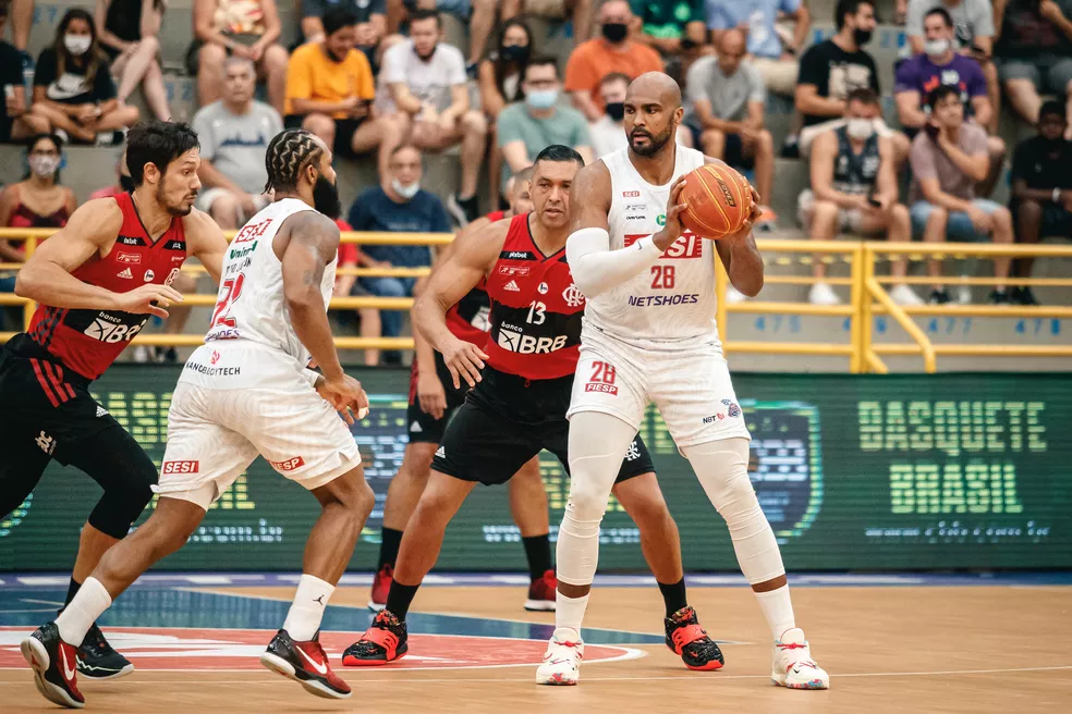
[[[242,389],[180,381],[153,491],[207,510],[258,454],[310,491],[361,464],[346,423],[296,370]]]

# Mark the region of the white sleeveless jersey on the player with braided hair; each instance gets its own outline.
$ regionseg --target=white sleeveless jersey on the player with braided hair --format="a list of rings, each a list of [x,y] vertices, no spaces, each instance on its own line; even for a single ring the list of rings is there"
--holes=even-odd
[[[239,231],[223,260],[220,292],[205,342],[248,341],[278,349],[301,367],[308,364],[309,354],[291,325],[283,297],[282,263],[276,257],[272,241],[283,221],[312,210],[304,201],[284,198],[269,205]],[[338,262],[337,255],[320,279],[325,305],[331,299]]]

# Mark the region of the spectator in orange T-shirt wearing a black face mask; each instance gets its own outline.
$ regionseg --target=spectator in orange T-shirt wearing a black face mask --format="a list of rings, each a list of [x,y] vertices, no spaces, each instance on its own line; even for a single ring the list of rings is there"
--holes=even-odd
[[[650,47],[629,38],[633,13],[625,0],[606,0],[599,8],[601,37],[582,42],[565,65],[565,90],[573,106],[589,122],[604,114],[599,83],[611,72],[630,79],[645,72],[661,72],[662,59]]]

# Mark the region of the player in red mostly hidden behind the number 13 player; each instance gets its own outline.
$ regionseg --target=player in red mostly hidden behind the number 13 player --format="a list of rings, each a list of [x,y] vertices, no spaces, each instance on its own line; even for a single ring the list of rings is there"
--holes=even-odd
[[[510,211],[494,211],[462,229],[458,239],[440,251],[437,264],[442,264],[453,253],[453,247],[465,238],[504,218],[533,210],[529,197],[532,167],[512,176],[507,185]],[[414,295],[419,295],[427,279],[417,281]],[[483,347],[488,341],[488,311],[490,301],[484,285],[477,285],[447,311],[447,327],[459,340]],[[380,611],[387,605],[391,590],[394,565],[398,561],[402,531],[417,507],[421,493],[431,473],[431,457],[439,447],[443,429],[454,411],[465,401],[467,384],[454,389],[442,355],[433,349],[428,341],[414,331],[414,360],[410,372],[410,406],[406,422],[410,441],[402,456],[402,466],[391,479],[383,503],[379,564],[373,579],[368,607]],[[510,510],[521,530],[525,557],[528,561],[529,586],[525,610],[555,610],[555,570],[551,565],[550,521],[547,513],[547,492],[539,476],[539,459],[533,457],[510,479]]]

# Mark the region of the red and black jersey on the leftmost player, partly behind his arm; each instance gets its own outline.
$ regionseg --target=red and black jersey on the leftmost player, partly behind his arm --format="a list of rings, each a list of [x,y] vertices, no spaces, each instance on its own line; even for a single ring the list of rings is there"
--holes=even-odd
[[[71,274],[114,293],[127,293],[146,283],[170,285],[186,259],[182,219],[172,218],[168,230],[153,241],[131,194],[119,194],[114,200],[123,211],[123,224],[111,250],[103,258],[84,262]],[[34,312],[29,336],[62,365],[95,380],[115,361],[148,318],[148,313],[122,310],[40,305]]]

